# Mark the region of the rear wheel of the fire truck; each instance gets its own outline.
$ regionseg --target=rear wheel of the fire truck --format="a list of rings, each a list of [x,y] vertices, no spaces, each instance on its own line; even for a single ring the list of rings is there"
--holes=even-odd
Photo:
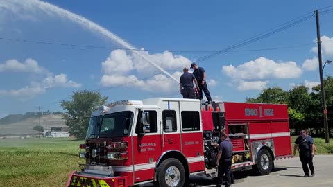
[[[257,173],[259,175],[268,175],[273,168],[273,159],[268,150],[260,150],[257,156]]]

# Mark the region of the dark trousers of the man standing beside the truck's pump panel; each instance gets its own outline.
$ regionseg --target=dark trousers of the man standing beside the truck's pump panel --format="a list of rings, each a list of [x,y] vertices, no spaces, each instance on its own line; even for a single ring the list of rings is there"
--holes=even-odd
[[[219,163],[219,170],[217,173],[218,181],[217,186],[222,186],[223,175],[225,175],[225,186],[231,186],[231,158],[230,159],[221,159]]]

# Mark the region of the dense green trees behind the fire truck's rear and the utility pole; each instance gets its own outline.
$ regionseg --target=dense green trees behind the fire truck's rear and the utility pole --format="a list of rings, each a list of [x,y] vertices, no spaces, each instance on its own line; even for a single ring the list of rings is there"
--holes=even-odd
[[[329,127],[333,120],[333,78],[324,80]],[[321,86],[312,89],[298,85],[285,91],[280,87],[264,89],[257,98],[246,98],[249,103],[284,103],[288,105],[289,125],[291,129],[312,128],[321,131],[323,128],[323,105]]]

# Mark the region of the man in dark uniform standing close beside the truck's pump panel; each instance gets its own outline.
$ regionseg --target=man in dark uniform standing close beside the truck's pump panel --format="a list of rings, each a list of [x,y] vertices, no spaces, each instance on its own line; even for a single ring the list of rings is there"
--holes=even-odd
[[[222,186],[223,175],[225,175],[225,186],[231,186],[231,165],[232,165],[232,143],[225,132],[220,132],[221,143],[219,145],[219,153],[217,154],[216,165],[218,170],[217,187]]]

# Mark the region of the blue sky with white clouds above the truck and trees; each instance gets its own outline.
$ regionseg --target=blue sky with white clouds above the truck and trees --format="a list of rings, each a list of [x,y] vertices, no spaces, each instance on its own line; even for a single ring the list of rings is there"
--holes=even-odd
[[[244,102],[275,86],[287,91],[304,84],[311,91],[319,84],[315,17],[202,57],[319,9],[328,11],[320,15],[323,62],[332,60],[332,5],[310,0],[0,0],[0,117],[39,106],[61,111],[60,100],[85,89],[100,91],[108,102],[181,98],[174,79],[191,62],[205,69],[216,101]],[[323,73],[332,71],[333,64],[327,64]]]

